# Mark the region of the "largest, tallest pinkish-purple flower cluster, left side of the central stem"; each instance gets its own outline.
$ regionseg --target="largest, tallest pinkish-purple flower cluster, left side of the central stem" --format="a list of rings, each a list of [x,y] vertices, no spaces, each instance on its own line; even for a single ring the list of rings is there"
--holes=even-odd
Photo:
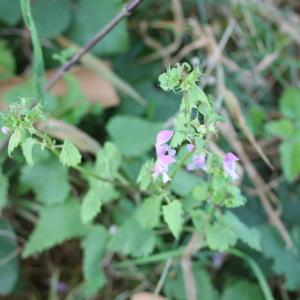
[[[164,183],[170,180],[167,174],[169,165],[174,163],[176,160],[174,158],[176,151],[171,149],[167,142],[170,141],[174,134],[172,130],[162,130],[156,136],[155,150],[156,150],[156,162],[154,165],[154,176],[162,176]]]

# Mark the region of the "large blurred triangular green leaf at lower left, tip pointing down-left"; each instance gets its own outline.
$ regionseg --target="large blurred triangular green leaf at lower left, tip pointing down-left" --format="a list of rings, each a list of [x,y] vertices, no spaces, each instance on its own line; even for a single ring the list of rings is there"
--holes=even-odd
[[[81,223],[80,206],[68,201],[40,212],[39,220],[23,251],[23,257],[37,254],[62,242],[83,236],[87,227]]]

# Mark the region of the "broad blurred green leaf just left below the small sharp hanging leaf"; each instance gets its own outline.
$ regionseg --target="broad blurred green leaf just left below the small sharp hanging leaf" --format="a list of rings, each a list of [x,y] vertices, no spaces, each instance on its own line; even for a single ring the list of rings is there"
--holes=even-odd
[[[135,218],[128,219],[113,236],[108,248],[124,255],[147,256],[154,250],[155,234],[143,228]]]

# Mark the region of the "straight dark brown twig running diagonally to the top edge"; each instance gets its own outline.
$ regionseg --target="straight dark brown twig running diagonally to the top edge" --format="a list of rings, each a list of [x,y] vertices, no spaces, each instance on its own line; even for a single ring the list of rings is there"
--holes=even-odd
[[[121,20],[129,16],[134,9],[142,2],[142,0],[132,0],[124,8],[115,15],[96,35],[78,50],[74,56],[62,65],[50,78],[46,85],[46,90],[49,91],[59,81],[59,79],[68,71],[80,58],[98,44]]]

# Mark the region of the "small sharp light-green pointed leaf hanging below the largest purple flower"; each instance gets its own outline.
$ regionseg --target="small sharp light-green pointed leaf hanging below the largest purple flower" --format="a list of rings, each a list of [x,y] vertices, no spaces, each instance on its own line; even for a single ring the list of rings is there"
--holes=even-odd
[[[178,239],[183,225],[183,211],[181,203],[178,200],[173,200],[171,203],[164,205],[162,209],[165,222],[174,237]]]

